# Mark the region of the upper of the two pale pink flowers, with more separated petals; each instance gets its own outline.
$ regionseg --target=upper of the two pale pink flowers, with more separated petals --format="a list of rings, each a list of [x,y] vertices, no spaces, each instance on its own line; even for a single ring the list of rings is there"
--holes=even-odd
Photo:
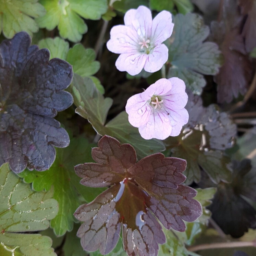
[[[121,53],[115,65],[120,71],[137,75],[160,70],[168,59],[168,48],[162,44],[172,34],[174,24],[170,12],[162,11],[152,21],[145,6],[130,9],[124,15],[124,25],[112,27],[107,48]]]

